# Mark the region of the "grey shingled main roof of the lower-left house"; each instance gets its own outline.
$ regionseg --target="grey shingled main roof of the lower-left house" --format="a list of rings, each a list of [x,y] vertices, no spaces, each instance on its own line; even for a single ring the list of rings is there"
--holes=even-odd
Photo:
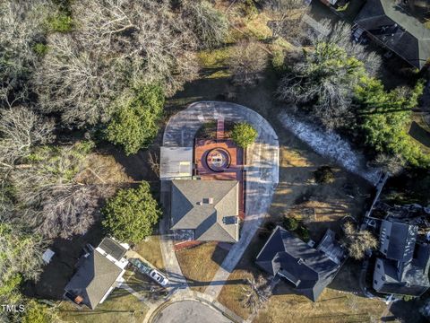
[[[78,271],[64,290],[73,296],[82,296],[82,303],[95,309],[110,287],[115,284],[123,269],[94,250],[82,258]]]

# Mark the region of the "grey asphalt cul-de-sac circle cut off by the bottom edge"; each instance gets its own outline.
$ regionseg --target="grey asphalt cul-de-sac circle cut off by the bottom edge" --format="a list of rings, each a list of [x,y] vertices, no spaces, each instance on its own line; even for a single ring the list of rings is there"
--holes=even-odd
[[[218,310],[200,301],[176,301],[157,313],[153,323],[230,323]]]

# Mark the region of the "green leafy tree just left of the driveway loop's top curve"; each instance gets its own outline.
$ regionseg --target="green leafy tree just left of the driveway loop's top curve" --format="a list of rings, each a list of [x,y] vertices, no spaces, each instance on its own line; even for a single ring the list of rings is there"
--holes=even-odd
[[[126,155],[148,147],[159,131],[163,107],[164,92],[159,85],[144,85],[125,95],[107,125],[107,140],[122,146]]]

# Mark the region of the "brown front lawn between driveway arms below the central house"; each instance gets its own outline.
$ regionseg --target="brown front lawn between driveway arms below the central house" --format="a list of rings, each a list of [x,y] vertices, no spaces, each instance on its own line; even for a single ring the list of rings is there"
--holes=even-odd
[[[227,250],[217,247],[216,242],[206,242],[176,251],[176,258],[191,289],[204,292],[227,253]]]

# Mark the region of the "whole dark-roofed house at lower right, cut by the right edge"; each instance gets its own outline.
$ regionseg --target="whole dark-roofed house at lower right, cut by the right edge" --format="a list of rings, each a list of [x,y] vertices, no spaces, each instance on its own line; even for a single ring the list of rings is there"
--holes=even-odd
[[[417,242],[416,225],[383,220],[380,251],[374,266],[376,292],[419,296],[430,287],[430,246]]]

